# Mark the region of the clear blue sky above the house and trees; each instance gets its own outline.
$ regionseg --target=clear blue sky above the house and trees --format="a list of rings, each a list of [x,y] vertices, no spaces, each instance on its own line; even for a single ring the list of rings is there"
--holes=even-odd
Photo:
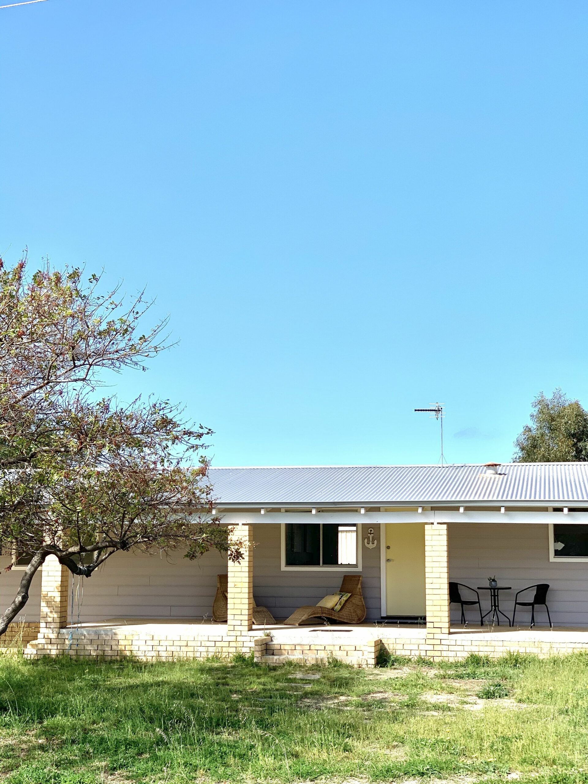
[[[216,465],[507,461],[588,404],[584,2],[0,11],[0,249],[156,296]]]

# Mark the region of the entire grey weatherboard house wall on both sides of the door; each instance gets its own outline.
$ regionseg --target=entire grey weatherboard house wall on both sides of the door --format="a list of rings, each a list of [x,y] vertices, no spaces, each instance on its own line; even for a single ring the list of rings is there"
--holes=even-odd
[[[366,515],[367,517],[367,515]],[[367,620],[380,617],[380,528],[370,522],[378,546],[369,550],[362,526],[362,588],[368,608]],[[316,602],[339,589],[341,572],[282,572],[279,524],[255,524],[256,548],[253,556],[253,593],[258,604],[270,608],[276,618],[285,618],[301,604]],[[0,610],[14,598],[22,572],[5,572],[9,559],[0,559]],[[165,557],[115,554],[91,578],[85,579],[80,619],[83,622],[112,618],[209,619],[216,591],[216,575],[227,571],[226,558],[212,552],[198,561],[188,561],[181,553]],[[550,561],[549,529],[546,524],[449,524],[450,579],[466,585],[482,586],[490,576],[513,586],[501,592],[501,606],[512,615],[514,593],[532,583],[550,583],[548,601],[557,626],[588,626],[588,562]],[[74,589],[78,579],[74,578]],[[30,599],[20,620],[38,621],[41,575],[35,575]],[[488,609],[488,592],[481,592],[482,607]],[[71,601],[71,598],[70,598]],[[77,603],[74,602],[74,619]],[[71,610],[70,610],[71,617]],[[474,625],[474,609],[466,609]],[[517,622],[524,626],[529,612],[517,610]],[[453,605],[452,619],[459,620]],[[545,622],[542,608],[537,620]]]

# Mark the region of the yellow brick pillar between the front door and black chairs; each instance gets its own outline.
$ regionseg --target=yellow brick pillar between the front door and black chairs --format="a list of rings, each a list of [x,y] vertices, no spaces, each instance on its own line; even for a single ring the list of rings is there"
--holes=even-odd
[[[447,524],[425,525],[426,647],[442,658],[449,633],[449,565]]]

